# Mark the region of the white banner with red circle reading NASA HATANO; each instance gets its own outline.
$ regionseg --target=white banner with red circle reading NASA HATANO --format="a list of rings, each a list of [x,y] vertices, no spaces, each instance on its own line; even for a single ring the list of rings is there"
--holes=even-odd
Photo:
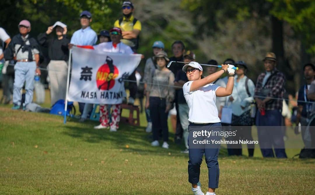
[[[123,79],[136,69],[141,54],[105,53],[72,48],[69,101],[119,104],[125,94]]]

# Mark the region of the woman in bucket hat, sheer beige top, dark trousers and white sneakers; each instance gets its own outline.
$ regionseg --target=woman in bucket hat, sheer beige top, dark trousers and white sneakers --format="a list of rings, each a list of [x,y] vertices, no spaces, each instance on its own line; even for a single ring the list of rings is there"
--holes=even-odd
[[[151,145],[160,145],[158,142],[159,130],[162,129],[162,148],[168,149],[169,129],[167,118],[175,95],[173,87],[174,74],[166,67],[169,62],[166,52],[158,52],[154,57],[154,61],[157,64],[157,69],[151,72],[146,88],[146,109],[150,109],[152,120],[153,142]]]

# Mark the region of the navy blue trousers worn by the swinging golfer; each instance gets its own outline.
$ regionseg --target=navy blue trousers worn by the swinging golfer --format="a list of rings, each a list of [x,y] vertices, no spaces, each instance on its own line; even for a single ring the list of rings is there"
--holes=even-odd
[[[188,145],[189,139],[192,139],[191,129],[200,128],[201,130],[211,131],[216,128],[216,130],[221,130],[221,123],[209,123],[206,125],[203,124],[193,124],[190,123],[188,126],[188,131],[190,131],[188,137]],[[213,137],[209,137],[209,140],[213,139]],[[219,137],[221,139],[221,137]],[[218,137],[216,138],[218,140]],[[220,146],[220,145],[219,145]],[[209,176],[209,187],[210,188],[218,188],[219,186],[219,162],[218,162],[218,154],[219,154],[219,146],[217,148],[191,148],[189,147],[189,161],[188,161],[188,181],[192,184],[197,184],[199,182],[200,176],[200,165],[202,163],[203,154],[205,155],[206,163],[208,166],[208,176]]]

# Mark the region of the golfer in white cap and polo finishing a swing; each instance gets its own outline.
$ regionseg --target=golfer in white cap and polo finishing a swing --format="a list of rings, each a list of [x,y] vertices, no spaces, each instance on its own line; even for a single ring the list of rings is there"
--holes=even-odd
[[[188,161],[188,181],[192,184],[192,192],[194,195],[204,195],[201,191],[199,182],[200,165],[203,154],[205,154],[206,163],[209,170],[209,189],[206,195],[215,195],[215,188],[219,184],[219,164],[218,153],[220,144],[215,147],[211,144],[195,144],[191,135],[200,135],[207,131],[220,131],[221,121],[218,117],[218,110],[215,106],[215,97],[224,97],[232,94],[234,86],[233,65],[223,65],[222,70],[215,72],[205,78],[202,78],[202,67],[198,62],[191,62],[183,67],[186,72],[188,82],[183,86],[184,97],[189,107],[189,161]],[[211,84],[218,79],[226,71],[229,73],[226,88]],[[196,131],[196,132],[195,132]],[[200,138],[199,137],[199,138]],[[198,139],[198,138],[197,138]],[[202,139],[221,140],[220,136],[203,136]],[[212,142],[211,142],[212,143]]]

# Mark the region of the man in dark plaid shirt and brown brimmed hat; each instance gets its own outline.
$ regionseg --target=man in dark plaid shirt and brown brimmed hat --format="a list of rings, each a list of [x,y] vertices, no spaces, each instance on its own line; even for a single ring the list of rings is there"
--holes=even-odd
[[[285,77],[276,69],[277,58],[274,53],[267,53],[264,58],[266,72],[261,73],[256,82],[255,100],[258,107],[256,125],[261,153],[264,157],[274,157],[272,146],[277,158],[287,158],[284,149],[284,129],[259,126],[281,126],[282,103],[284,96]],[[274,99],[278,98],[278,99]],[[275,131],[271,132],[271,129]]]

